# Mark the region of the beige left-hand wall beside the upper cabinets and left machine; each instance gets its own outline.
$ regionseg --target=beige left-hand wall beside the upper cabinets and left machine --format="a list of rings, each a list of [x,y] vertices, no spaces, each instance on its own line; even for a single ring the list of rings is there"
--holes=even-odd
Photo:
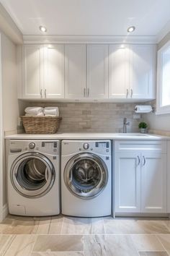
[[[1,64],[2,64],[2,121],[3,132],[16,132],[19,116],[17,101],[17,48],[9,38],[1,34]],[[6,164],[5,148],[3,150],[3,204],[6,204]]]

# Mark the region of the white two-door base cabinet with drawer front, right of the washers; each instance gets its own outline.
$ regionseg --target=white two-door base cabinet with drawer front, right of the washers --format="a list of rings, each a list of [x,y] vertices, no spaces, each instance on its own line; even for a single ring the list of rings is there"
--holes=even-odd
[[[115,213],[167,213],[166,144],[154,147],[115,142]]]

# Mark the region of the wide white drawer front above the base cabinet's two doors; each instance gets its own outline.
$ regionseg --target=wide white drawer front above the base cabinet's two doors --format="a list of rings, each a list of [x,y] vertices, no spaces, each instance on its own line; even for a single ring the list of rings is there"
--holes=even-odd
[[[115,153],[166,153],[166,140],[116,140]]]

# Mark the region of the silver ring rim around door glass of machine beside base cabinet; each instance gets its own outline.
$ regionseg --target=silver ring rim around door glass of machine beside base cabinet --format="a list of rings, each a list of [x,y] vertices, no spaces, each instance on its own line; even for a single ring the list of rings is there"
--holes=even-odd
[[[97,186],[94,187],[94,189],[91,189],[90,192],[83,192],[81,189],[76,188],[75,186],[73,186],[70,180],[71,168],[76,163],[78,163],[80,160],[83,160],[83,159],[84,160],[89,159],[94,161],[99,167],[99,171],[101,174],[101,179],[99,184],[97,184]],[[76,197],[81,197],[84,200],[97,197],[100,193],[102,193],[102,191],[104,190],[108,182],[108,170],[107,170],[106,164],[104,163],[102,158],[99,158],[98,155],[94,155],[92,153],[80,153],[80,154],[74,155],[66,164],[63,176],[64,176],[64,182],[66,184],[66,187],[69,189],[69,191],[73,195],[76,195]]]

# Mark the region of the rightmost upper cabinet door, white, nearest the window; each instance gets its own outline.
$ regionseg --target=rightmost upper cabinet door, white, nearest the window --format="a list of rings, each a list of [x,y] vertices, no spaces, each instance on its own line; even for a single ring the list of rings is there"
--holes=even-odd
[[[130,46],[130,98],[155,98],[155,69],[155,46]]]

